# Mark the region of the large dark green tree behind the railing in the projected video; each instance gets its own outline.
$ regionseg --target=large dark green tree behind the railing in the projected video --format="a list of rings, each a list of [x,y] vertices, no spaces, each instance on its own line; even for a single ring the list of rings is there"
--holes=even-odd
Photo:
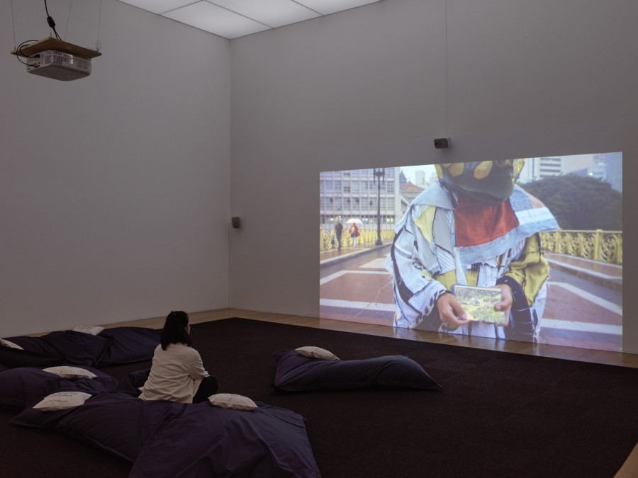
[[[622,194],[605,181],[568,174],[520,186],[552,211],[561,229],[622,230]]]

